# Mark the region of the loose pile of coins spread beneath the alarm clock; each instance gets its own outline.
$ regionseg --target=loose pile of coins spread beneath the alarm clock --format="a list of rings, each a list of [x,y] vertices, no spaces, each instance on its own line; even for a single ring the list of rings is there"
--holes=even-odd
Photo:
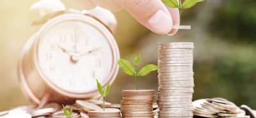
[[[102,100],[76,100],[74,105],[65,105],[70,110],[73,109],[71,118],[89,118],[88,112],[90,111],[102,111]],[[120,117],[120,105],[105,102],[106,114],[111,114],[111,117]],[[112,115],[114,114],[114,115]],[[110,117],[110,115],[104,115],[102,113],[94,112],[92,117]],[[0,118],[66,118],[62,110],[62,107],[58,103],[47,103],[44,108],[35,108],[32,106],[22,106],[12,108],[0,112]]]

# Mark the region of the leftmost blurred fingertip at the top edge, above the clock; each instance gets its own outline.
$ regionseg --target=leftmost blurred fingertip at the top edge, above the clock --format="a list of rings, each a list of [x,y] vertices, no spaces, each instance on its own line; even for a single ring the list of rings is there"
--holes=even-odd
[[[69,0],[69,2],[74,8],[78,8],[79,10],[92,10],[96,7],[90,0]]]

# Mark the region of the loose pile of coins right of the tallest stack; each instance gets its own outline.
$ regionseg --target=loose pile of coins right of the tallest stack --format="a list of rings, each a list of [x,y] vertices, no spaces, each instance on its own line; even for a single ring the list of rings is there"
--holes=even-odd
[[[211,98],[193,101],[194,115],[200,117],[250,118],[245,111],[224,98]]]

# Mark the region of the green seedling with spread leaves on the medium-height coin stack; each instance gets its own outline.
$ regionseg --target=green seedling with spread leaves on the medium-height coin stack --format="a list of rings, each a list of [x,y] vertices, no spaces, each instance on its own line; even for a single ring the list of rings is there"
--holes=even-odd
[[[141,68],[140,71],[138,71],[138,64],[140,63],[140,55],[132,56],[131,60],[135,68],[132,66],[132,64],[129,61],[126,61],[125,59],[120,59],[118,61],[118,65],[123,69],[124,73],[135,77],[136,90],[138,90],[138,77],[143,77],[145,75],[148,75],[148,73],[150,73],[151,71],[157,70],[158,66],[154,64],[148,64],[147,66],[144,66],[143,68]]]

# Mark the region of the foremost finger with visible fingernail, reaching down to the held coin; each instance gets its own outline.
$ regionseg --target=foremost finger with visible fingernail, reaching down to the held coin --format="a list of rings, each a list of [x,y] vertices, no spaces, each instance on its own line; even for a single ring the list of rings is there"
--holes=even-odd
[[[159,0],[115,0],[154,33],[166,34],[172,29],[172,17]]]

